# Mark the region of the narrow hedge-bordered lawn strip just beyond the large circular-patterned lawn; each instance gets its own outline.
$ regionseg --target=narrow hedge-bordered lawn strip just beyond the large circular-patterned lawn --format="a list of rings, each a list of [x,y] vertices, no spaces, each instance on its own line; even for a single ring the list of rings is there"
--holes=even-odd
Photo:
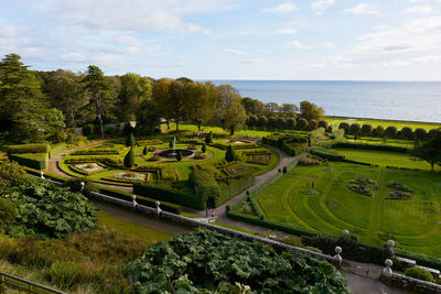
[[[427,163],[426,161],[417,160],[406,153],[354,149],[332,149],[332,151],[345,155],[347,160],[377,164],[384,167],[396,166],[430,171],[429,163]]]

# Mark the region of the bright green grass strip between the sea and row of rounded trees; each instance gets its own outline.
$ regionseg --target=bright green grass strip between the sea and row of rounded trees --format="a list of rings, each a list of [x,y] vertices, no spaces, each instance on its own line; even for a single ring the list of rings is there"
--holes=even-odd
[[[349,123],[359,123],[363,126],[365,123],[373,126],[375,129],[377,126],[383,126],[385,129],[389,126],[397,127],[398,130],[401,130],[405,127],[412,128],[412,130],[417,128],[426,129],[430,131],[431,129],[441,128],[441,123],[430,123],[430,122],[415,122],[415,121],[404,121],[404,120],[380,120],[380,119],[352,119],[352,118],[340,118],[340,117],[326,117],[327,123],[332,123],[334,128],[338,128],[341,122],[349,122]]]

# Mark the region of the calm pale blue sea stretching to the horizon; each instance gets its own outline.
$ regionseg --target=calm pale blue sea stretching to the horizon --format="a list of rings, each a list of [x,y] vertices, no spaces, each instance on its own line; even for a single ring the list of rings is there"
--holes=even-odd
[[[441,122],[441,81],[213,80],[262,102],[308,100],[327,116]]]

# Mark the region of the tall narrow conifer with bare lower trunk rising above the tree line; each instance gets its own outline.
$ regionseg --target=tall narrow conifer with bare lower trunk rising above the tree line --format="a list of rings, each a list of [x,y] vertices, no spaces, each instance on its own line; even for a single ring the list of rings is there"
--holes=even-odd
[[[98,66],[89,65],[86,76],[83,78],[85,89],[89,94],[89,106],[95,107],[95,115],[99,126],[100,138],[104,139],[103,118],[106,115],[106,108],[114,105],[108,95],[109,84]]]

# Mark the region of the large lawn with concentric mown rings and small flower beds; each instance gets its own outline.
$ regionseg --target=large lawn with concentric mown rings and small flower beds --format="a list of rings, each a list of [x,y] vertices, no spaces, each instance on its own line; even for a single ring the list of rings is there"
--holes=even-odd
[[[343,229],[362,242],[383,246],[391,236],[399,248],[441,257],[441,177],[428,172],[369,167],[349,163],[298,166],[255,199],[269,220],[341,236]],[[367,176],[380,188],[373,197],[349,190],[349,179]],[[396,181],[417,197],[391,200],[386,185]],[[312,182],[319,195],[301,194]]]

